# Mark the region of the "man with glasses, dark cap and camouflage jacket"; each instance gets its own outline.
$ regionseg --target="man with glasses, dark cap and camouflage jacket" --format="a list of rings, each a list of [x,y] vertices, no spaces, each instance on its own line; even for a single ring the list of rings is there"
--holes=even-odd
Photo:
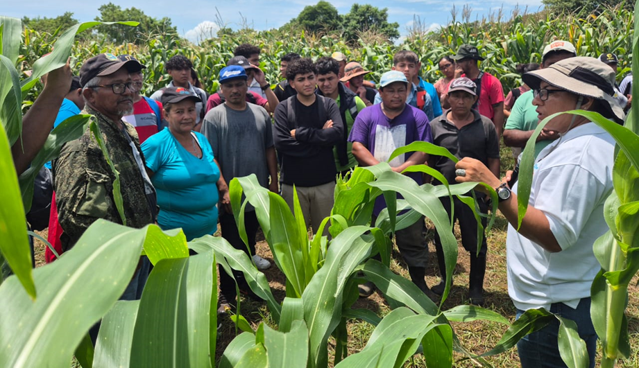
[[[155,191],[144,171],[137,133],[121,119],[133,109],[131,89],[135,87],[129,73],[137,70],[139,62],[122,62],[111,54],[97,55],[80,69],[86,101],[83,113],[95,116],[108,156],[119,172],[123,216],[114,200],[114,173],[92,132],[87,130],[62,147],[54,164],[65,251],[99,218],[135,228],[155,222]]]

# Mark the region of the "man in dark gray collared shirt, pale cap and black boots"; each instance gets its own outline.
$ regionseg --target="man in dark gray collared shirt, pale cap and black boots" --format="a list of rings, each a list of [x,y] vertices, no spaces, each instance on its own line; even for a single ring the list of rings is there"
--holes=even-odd
[[[497,176],[500,173],[500,148],[499,137],[495,131],[495,125],[491,119],[480,115],[472,105],[477,100],[477,86],[468,78],[457,78],[450,82],[448,87],[448,102],[450,109],[430,122],[433,133],[433,143],[453,152],[458,158],[472,157],[488,166],[491,172]],[[448,157],[431,156],[429,166],[441,172],[449,183],[454,183],[454,162]],[[470,193],[469,193],[470,195]],[[479,209],[482,213],[488,213],[486,196],[477,193]],[[484,275],[486,274],[486,235],[482,234],[482,244],[477,253],[477,220],[475,213],[459,198],[454,198],[453,206],[450,206],[448,197],[441,198],[443,207],[448,215],[454,214],[459,220],[461,230],[461,245],[470,253],[470,276],[468,283],[468,297],[471,304],[484,304]],[[452,211],[454,209],[454,211]],[[486,218],[482,218],[482,226],[486,227]],[[437,261],[441,272],[441,281],[433,286],[432,290],[437,295],[442,295],[445,288],[446,264],[439,235],[435,236],[435,249]]]

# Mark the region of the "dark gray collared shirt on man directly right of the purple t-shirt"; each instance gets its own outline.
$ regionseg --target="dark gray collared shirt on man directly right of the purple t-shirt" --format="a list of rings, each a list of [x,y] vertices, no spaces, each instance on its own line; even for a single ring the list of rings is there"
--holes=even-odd
[[[433,143],[446,148],[458,159],[472,157],[488,166],[488,159],[500,158],[499,139],[495,124],[486,116],[472,110],[475,120],[460,129],[448,121],[449,110],[430,122]],[[434,168],[444,175],[450,184],[455,184],[455,163],[447,157],[436,157]]]

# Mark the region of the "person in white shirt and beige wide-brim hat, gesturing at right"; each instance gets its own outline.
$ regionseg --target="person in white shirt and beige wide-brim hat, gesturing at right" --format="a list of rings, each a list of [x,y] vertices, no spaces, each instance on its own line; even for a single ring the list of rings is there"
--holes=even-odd
[[[615,73],[595,58],[561,60],[526,73],[523,79],[534,90],[540,120],[572,109],[599,112],[617,123],[624,119],[614,97]],[[613,190],[615,141],[583,116],[562,114],[546,126],[559,132],[560,138],[536,158],[533,192],[519,229],[518,184],[511,192],[510,173],[500,180],[480,161],[462,159],[456,179],[484,182],[499,195],[499,209],[510,223],[506,265],[517,317],[525,310],[545,308],[572,319],[586,342],[590,367],[595,367],[597,333],[590,319],[590,287],[600,267],[593,244],[608,231],[604,202]],[[523,368],[543,363],[565,367],[554,344],[558,331],[559,322],[553,320],[518,342]]]

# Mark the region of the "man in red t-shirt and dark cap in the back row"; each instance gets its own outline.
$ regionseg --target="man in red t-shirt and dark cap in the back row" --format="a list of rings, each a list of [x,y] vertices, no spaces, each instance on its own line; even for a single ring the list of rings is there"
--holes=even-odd
[[[459,46],[453,59],[457,67],[463,71],[461,76],[469,78],[477,85],[477,102],[472,108],[477,109],[479,114],[491,119],[495,124],[497,137],[502,137],[502,132],[504,131],[504,90],[502,89],[502,83],[490,73],[479,70],[479,61],[484,60],[484,58],[479,55],[477,46],[469,44]],[[445,105],[448,105],[448,103]]]

